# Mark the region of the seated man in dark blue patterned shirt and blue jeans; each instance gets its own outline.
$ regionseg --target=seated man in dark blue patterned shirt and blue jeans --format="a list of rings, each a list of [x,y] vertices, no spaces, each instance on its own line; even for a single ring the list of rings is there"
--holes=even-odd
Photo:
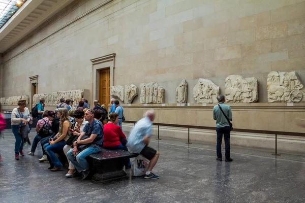
[[[88,123],[85,125],[83,131],[79,133],[77,141],[73,143],[73,149],[67,153],[67,157],[75,166],[76,170],[82,172],[82,180],[86,179],[89,175],[89,164],[86,157],[90,154],[98,153],[103,144],[103,125],[100,121],[94,119],[95,111],[88,109],[85,113],[85,120]],[[82,140],[83,136],[89,136]],[[91,144],[88,148],[78,152],[77,146],[83,144]]]

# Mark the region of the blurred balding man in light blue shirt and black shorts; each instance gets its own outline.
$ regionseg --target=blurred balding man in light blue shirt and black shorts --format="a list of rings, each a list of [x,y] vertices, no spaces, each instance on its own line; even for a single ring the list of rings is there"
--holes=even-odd
[[[144,178],[158,179],[159,176],[151,173],[159,159],[159,152],[148,147],[153,121],[155,120],[154,111],[147,111],[146,116],[139,120],[130,132],[127,147],[133,153],[138,153],[147,158],[150,162]]]

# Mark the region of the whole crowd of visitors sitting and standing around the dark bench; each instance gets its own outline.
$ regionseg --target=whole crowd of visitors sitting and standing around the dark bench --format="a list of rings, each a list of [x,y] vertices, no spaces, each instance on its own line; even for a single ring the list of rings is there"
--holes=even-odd
[[[90,109],[88,100],[85,98],[79,101],[77,107],[73,106],[73,102],[72,99],[61,98],[54,112],[44,110],[45,99],[40,98],[36,104],[38,122],[35,130],[37,134],[29,155],[35,155],[40,142],[43,157],[39,161],[48,161],[50,171],[62,170],[63,163],[60,156],[65,154],[69,162],[66,178],[71,178],[77,173],[84,180],[90,173],[90,167],[86,161],[88,155],[98,153],[101,147],[110,150],[130,150],[150,160],[144,178],[159,178],[151,173],[158,161],[159,152],[148,147],[152,122],[155,119],[153,111],[147,111],[145,117],[135,124],[127,141],[121,125],[125,120],[124,108],[119,105],[118,100],[111,99],[112,106],[108,123],[105,123],[108,121],[106,105],[100,105],[99,100],[94,101],[93,109]],[[12,111],[11,119],[12,131],[16,140],[15,159],[18,160],[19,155],[24,156],[23,144],[29,142],[30,125],[28,124],[33,122],[33,118],[26,108],[26,100],[18,101],[18,107]],[[130,167],[131,162],[126,159],[125,168]]]

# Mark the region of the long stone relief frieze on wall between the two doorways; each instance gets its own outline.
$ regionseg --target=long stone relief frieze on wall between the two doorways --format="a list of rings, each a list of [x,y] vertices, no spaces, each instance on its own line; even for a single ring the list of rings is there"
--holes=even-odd
[[[62,92],[51,92],[51,93],[42,93],[42,94],[34,94],[33,96],[33,104],[37,104],[41,97],[45,98],[45,105],[57,105],[60,102],[60,98],[64,99],[72,99],[74,104],[77,104],[83,97],[83,90],[70,90],[70,91],[62,91]]]

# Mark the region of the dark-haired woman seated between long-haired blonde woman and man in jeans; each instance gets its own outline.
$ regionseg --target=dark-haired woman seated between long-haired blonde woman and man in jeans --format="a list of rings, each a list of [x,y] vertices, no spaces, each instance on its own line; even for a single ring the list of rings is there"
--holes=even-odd
[[[72,133],[71,136],[73,136],[77,139],[78,134],[83,131],[83,129],[84,129],[85,125],[88,123],[88,121],[86,121],[84,119],[84,112],[82,110],[76,110],[74,112],[73,116],[75,117],[76,123],[75,123],[74,129],[72,130],[73,133]],[[67,156],[67,153],[69,152],[70,149],[71,149],[70,145],[65,145],[64,153],[66,154],[66,156]],[[68,156],[67,156],[67,158],[68,158]],[[69,161],[69,158],[68,158],[68,161]],[[68,168],[69,168],[69,171],[66,174],[66,178],[71,178],[72,175],[75,173],[75,167],[71,163],[71,161],[69,161],[69,167]]]

